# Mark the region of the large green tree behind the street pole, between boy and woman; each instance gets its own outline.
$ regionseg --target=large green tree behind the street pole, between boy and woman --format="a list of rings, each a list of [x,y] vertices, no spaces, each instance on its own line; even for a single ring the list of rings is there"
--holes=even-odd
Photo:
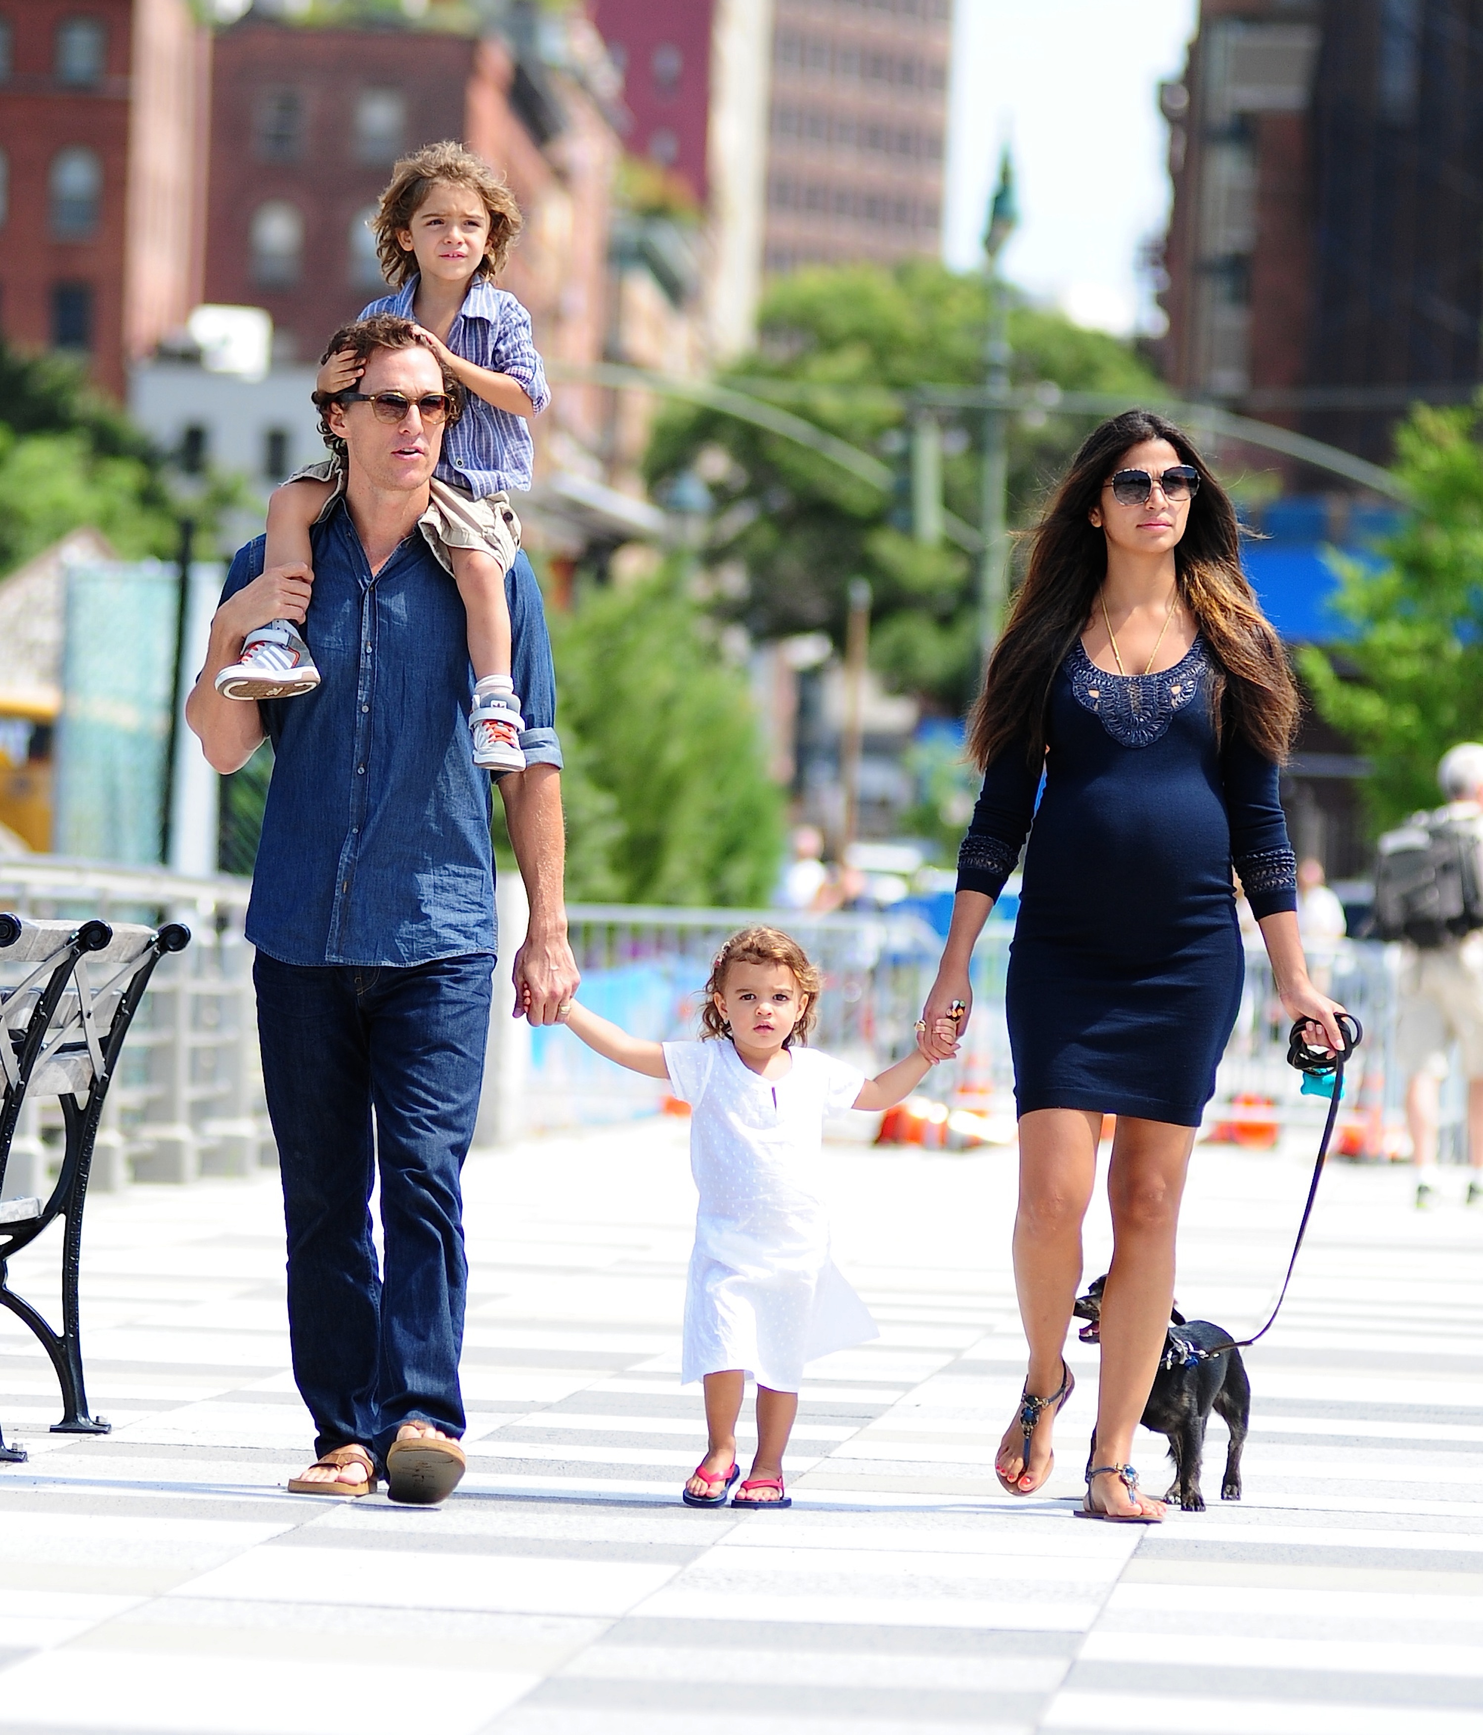
[[[723,383],[777,397],[853,446],[892,456],[904,475],[904,394],[980,385],[985,323],[983,279],[928,260],[805,271],[770,290],[758,350]],[[1060,314],[1016,305],[1009,338],[1016,383],[1129,396],[1153,385],[1129,345]],[[982,415],[966,413],[961,429],[966,441],[949,442],[944,493],[949,510],[977,524]],[[1011,522],[1029,522],[1084,432],[1084,418],[1016,418]],[[791,441],[711,409],[668,411],[647,456],[650,484],[663,494],[697,462],[715,496],[709,557],[742,562],[746,593],[728,607],[756,637],[824,628],[841,640],[845,585],[864,574],[874,590],[874,665],[898,689],[964,708],[977,671],[966,555],[916,543],[898,500]]]

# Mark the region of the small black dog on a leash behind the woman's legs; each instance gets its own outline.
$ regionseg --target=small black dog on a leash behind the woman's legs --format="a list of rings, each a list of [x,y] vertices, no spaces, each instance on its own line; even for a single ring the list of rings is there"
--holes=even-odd
[[[1077,1334],[1082,1343],[1100,1343],[1101,1286],[1105,1277],[1077,1298],[1075,1317],[1091,1320]],[[1230,1345],[1230,1348],[1226,1348]],[[1225,1350],[1207,1359],[1192,1357],[1192,1350]],[[1209,1320],[1186,1320],[1181,1313],[1169,1315],[1169,1334],[1164,1355],[1153,1376],[1153,1390],[1143,1409],[1143,1426],[1169,1437],[1169,1456],[1174,1459],[1174,1483],[1164,1496],[1178,1501],[1186,1513],[1205,1509],[1200,1494],[1200,1457],[1205,1449],[1205,1423],[1214,1411],[1230,1428],[1231,1444],[1226,1450],[1226,1473],[1221,1478],[1221,1499],[1240,1499],[1240,1452],[1251,1424],[1251,1381],[1235,1339]],[[1093,1438],[1093,1456],[1096,1440]],[[1091,1457],[1086,1461],[1091,1470]]]

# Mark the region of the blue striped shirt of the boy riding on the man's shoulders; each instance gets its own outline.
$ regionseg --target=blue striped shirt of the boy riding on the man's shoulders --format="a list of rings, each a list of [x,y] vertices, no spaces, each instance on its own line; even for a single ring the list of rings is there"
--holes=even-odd
[[[363,307],[361,318],[395,314],[399,319],[415,319],[416,286],[418,278],[413,278],[395,295],[383,295]],[[531,335],[529,312],[508,290],[496,290],[487,278],[475,278],[468,285],[468,295],[448,333],[448,347],[477,368],[519,380],[532,409],[541,411],[552,401],[546,370]],[[442,458],[435,474],[439,481],[467,488],[475,500],[484,500],[501,489],[529,488],[532,458],[526,418],[496,409],[468,392],[463,415],[442,437]]]

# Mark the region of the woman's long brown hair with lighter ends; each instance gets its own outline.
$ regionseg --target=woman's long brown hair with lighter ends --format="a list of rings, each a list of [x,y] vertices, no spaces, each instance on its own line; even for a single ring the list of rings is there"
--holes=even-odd
[[[1044,758],[1051,682],[1086,628],[1107,576],[1107,538],[1089,514],[1122,456],[1150,439],[1167,441],[1181,463],[1200,472],[1200,489],[1174,550],[1174,574],[1179,599],[1195,616],[1214,661],[1216,730],[1235,729],[1258,753],[1285,763],[1297,730],[1297,685],[1282,640],[1240,569],[1230,494],[1183,429],[1150,409],[1129,409],[1088,435],[1035,526],[1025,581],[968,722],[968,751],[980,770],[1015,741],[1025,741],[1030,765]]]

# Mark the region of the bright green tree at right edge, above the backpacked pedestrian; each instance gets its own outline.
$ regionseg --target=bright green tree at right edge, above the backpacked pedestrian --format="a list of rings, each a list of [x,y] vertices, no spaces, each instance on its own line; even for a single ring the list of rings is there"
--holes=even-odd
[[[1417,406],[1396,430],[1396,474],[1415,510],[1370,571],[1336,560],[1339,612],[1356,628],[1299,666],[1320,715],[1374,763],[1377,826],[1434,807],[1436,762],[1483,737],[1483,396]]]

